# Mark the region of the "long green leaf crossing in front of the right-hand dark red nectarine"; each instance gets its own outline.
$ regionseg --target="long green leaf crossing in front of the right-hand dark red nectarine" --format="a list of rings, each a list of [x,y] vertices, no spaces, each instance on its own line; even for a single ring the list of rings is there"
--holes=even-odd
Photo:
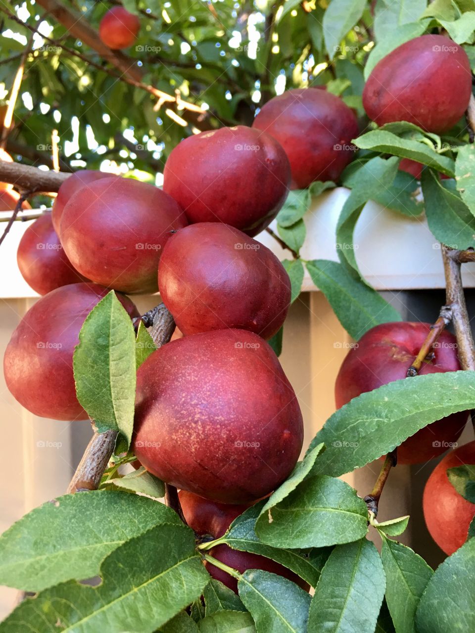
[[[471,372],[446,372],[395,380],[361,394],[327,420],[308,450],[327,449],[315,472],[339,477],[390,453],[436,420],[475,404]]]

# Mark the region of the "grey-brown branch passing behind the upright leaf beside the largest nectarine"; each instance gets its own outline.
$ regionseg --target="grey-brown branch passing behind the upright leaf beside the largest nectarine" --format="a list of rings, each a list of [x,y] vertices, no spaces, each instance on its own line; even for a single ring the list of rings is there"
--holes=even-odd
[[[160,348],[170,341],[175,330],[175,323],[163,303],[156,306],[153,310],[154,318],[151,334],[153,337],[155,332],[155,345]],[[91,422],[93,423],[93,421]],[[117,436],[118,432],[116,430],[108,430],[101,434],[94,432],[68,486],[67,492],[73,493],[98,489],[101,477],[113,454]]]

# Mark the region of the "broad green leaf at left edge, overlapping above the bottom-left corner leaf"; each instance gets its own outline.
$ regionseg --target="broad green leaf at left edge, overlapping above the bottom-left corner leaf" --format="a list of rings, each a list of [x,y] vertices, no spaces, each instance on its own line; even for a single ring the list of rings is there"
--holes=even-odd
[[[180,523],[162,503],[134,494],[66,494],[35,508],[0,537],[0,584],[41,591],[91,578],[125,541],[157,523]]]

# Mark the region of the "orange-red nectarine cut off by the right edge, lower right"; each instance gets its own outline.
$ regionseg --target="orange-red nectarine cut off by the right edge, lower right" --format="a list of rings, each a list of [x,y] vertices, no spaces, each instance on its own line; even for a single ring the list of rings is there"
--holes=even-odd
[[[426,483],[422,498],[424,518],[431,537],[449,556],[466,542],[469,525],[475,516],[475,503],[464,499],[447,477],[448,468],[463,464],[475,464],[475,442],[450,451],[438,463]]]

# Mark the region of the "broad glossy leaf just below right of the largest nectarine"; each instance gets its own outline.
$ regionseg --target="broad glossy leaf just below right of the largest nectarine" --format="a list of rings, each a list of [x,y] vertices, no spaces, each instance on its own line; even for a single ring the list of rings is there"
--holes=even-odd
[[[322,548],[362,538],[368,511],[340,479],[310,477],[256,523],[258,538],[276,548]]]

